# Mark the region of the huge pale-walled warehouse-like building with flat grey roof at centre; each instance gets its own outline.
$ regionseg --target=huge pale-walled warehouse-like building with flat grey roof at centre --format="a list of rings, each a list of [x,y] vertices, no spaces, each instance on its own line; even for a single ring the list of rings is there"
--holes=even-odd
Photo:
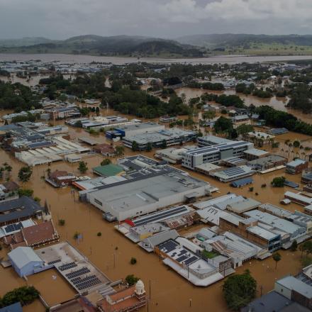
[[[188,202],[209,192],[210,184],[172,167],[89,191],[87,201],[123,221],[157,208]]]

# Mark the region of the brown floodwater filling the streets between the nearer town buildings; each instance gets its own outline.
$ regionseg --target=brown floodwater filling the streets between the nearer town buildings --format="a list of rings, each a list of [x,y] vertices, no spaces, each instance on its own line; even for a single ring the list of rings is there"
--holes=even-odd
[[[101,110],[102,114],[113,113],[108,110]],[[62,123],[60,121],[59,123]],[[69,130],[72,138],[78,138],[79,136],[89,136],[89,133],[82,129],[70,128]],[[99,143],[106,142],[104,135],[92,136]],[[288,133],[286,136],[279,136],[278,140],[281,143],[279,153],[282,153],[283,142],[286,138],[291,140],[297,138],[303,142],[303,144],[311,144],[311,137],[304,135],[298,135],[294,133]],[[118,143],[120,144],[120,143]],[[144,152],[143,154],[152,157],[155,151]],[[134,153],[126,149],[126,155],[133,155]],[[92,157],[86,157],[89,170],[86,174],[93,176],[91,168],[99,165],[103,157],[95,155]],[[114,160],[116,161],[116,160]],[[11,172],[11,179],[17,180],[18,169],[23,166],[21,162],[18,162],[13,155],[0,150],[0,163],[9,162],[13,171]],[[51,207],[52,217],[57,228],[58,233],[62,240],[68,240],[77,247],[81,252],[86,255],[91,262],[94,262],[104,274],[110,279],[116,280],[126,277],[128,274],[135,274],[143,279],[147,293],[151,294],[149,311],[203,311],[209,307],[209,311],[227,311],[225,301],[223,300],[221,286],[223,282],[218,282],[207,288],[199,288],[186,282],[185,279],[180,277],[177,273],[162,264],[158,257],[154,254],[148,254],[140,247],[132,243],[118,233],[112,223],[103,221],[101,218],[101,211],[94,208],[90,204],[77,201],[78,194],[74,191],[71,193],[71,188],[55,189],[49,184],[43,182],[40,177],[43,176],[45,170],[48,169],[48,165],[40,165],[33,168],[33,176],[30,182],[23,185],[34,190],[34,196],[38,196],[41,199],[41,203],[47,200],[48,205]],[[77,164],[69,164],[67,162],[55,162],[50,166],[50,169],[64,169],[68,172],[80,175],[77,170]],[[253,192],[248,191],[248,186],[241,189],[233,189],[228,184],[217,182],[216,180],[206,177],[202,174],[190,172],[194,177],[210,182],[220,188],[220,194],[214,194],[213,196],[219,196],[226,194],[228,191],[233,191],[237,194],[244,196],[250,196],[254,199],[262,201],[263,203],[269,201],[272,204],[279,205],[280,199],[283,198],[284,191],[288,188],[276,189],[272,188],[269,184],[274,177],[284,175],[284,170],[272,172],[265,175],[254,176]],[[291,181],[299,182],[299,175],[289,176],[286,174],[286,178]],[[262,189],[261,184],[267,184],[267,187]],[[255,195],[255,193],[258,195]],[[291,204],[285,206],[290,211],[299,210],[303,211],[302,206],[297,204]],[[65,225],[58,225],[57,221],[62,218],[65,220]],[[193,228],[191,228],[193,230]],[[74,241],[73,235],[75,232],[82,233],[83,240],[78,244]],[[101,232],[101,237],[98,237],[96,233]],[[0,256],[4,257],[8,250],[2,250]],[[267,293],[274,287],[274,281],[286,274],[296,274],[300,269],[300,252],[282,251],[282,260],[279,262],[277,269],[274,269],[274,261],[269,258],[264,261],[251,260],[243,264],[243,267],[237,269],[237,272],[243,272],[244,269],[250,269],[252,275],[257,279],[258,290],[260,295],[260,286],[262,286],[262,294]],[[130,264],[130,258],[135,257],[138,262],[135,265]],[[115,260],[115,261],[114,261]],[[52,279],[52,275],[56,275],[57,279]],[[6,291],[25,285],[26,281],[19,278],[12,268],[4,269],[0,267],[0,296],[3,296]],[[3,282],[5,281],[5,282]],[[28,284],[33,284],[37,287],[46,301],[50,304],[54,304],[60,301],[67,300],[74,295],[73,289],[65,282],[62,277],[55,273],[54,270],[48,270],[28,279]],[[151,289],[149,288],[151,285]],[[191,307],[189,307],[189,299],[191,299]],[[29,306],[26,311],[44,311],[38,301]],[[147,311],[147,307],[142,311]]]

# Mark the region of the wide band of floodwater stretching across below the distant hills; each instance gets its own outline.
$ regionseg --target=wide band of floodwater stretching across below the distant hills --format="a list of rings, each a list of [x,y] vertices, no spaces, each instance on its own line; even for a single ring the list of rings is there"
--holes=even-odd
[[[90,63],[90,62],[106,62],[113,64],[125,64],[134,62],[149,63],[228,63],[238,64],[242,62],[279,62],[291,60],[312,60],[312,55],[277,55],[277,56],[257,56],[257,55],[216,55],[212,57],[196,57],[196,58],[162,58],[162,57],[108,57],[108,56],[92,56],[92,55],[70,55],[70,54],[6,54],[0,53],[1,61],[29,61],[41,60],[43,62],[62,62],[62,63]]]

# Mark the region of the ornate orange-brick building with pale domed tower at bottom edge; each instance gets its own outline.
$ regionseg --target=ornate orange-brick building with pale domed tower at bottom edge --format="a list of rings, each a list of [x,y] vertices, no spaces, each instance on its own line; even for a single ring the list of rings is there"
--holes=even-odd
[[[97,306],[101,312],[130,312],[142,308],[147,303],[145,287],[139,279],[135,286],[106,295]]]

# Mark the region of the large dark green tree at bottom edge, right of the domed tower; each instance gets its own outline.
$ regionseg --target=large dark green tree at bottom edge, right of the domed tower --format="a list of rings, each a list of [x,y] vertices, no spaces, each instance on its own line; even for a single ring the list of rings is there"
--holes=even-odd
[[[223,284],[223,294],[228,308],[238,311],[243,306],[247,306],[255,299],[257,282],[250,275],[249,270],[243,274],[235,274],[225,280]]]

